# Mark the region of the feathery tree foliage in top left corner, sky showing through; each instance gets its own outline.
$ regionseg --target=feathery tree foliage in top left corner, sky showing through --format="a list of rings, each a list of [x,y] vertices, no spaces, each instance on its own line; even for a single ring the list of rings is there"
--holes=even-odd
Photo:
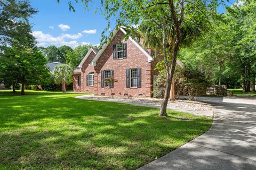
[[[16,44],[33,47],[29,18],[37,13],[27,0],[0,0],[0,50]]]

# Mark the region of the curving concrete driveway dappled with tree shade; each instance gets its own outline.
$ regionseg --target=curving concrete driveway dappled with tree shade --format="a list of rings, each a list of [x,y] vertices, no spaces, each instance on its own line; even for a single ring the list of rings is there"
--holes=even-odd
[[[256,169],[256,98],[202,97],[214,106],[209,131],[142,169]]]

